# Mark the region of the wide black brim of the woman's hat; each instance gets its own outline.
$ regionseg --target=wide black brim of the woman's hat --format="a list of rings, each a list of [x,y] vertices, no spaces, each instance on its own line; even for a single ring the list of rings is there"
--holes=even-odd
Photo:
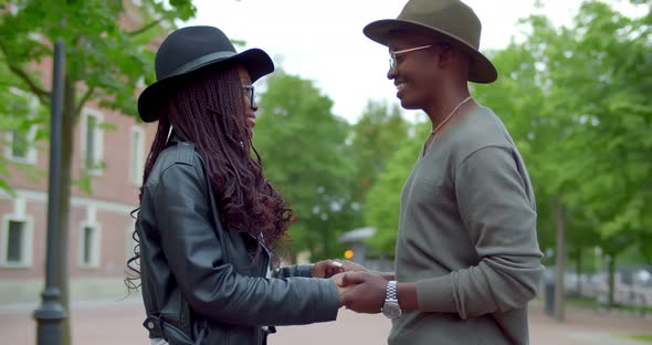
[[[138,96],[138,114],[143,122],[150,123],[159,118],[162,109],[160,108],[160,95],[175,84],[175,81],[181,77],[188,77],[191,74],[202,71],[210,66],[215,66],[224,63],[242,64],[251,77],[251,82],[257,81],[260,77],[274,72],[274,62],[263,50],[253,48],[241,53],[221,53],[215,55],[204,56],[189,62],[169,76],[158,80],[151,85],[147,86],[140,96]]]

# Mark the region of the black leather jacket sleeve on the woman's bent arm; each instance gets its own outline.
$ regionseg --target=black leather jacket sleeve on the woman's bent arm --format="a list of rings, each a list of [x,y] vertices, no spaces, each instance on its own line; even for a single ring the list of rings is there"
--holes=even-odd
[[[236,325],[335,320],[338,295],[332,280],[238,273],[217,236],[223,230],[211,222],[206,188],[199,168],[175,164],[162,172],[150,200],[162,251],[191,307],[206,317]]]

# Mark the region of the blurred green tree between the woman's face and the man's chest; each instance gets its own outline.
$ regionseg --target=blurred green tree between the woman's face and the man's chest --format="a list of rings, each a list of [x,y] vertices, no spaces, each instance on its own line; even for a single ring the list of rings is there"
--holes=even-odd
[[[308,250],[312,260],[337,257],[343,248],[335,240],[355,212],[350,126],[333,115],[333,101],[312,81],[280,71],[266,86],[254,142],[266,177],[297,216],[288,250]]]

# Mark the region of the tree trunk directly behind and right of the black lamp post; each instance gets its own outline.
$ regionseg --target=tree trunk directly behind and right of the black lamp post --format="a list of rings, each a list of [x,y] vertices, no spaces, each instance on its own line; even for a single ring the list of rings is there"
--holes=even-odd
[[[61,132],[61,177],[59,184],[61,192],[59,198],[59,239],[57,254],[60,265],[56,268],[56,285],[61,290],[61,305],[67,313],[62,322],[62,345],[72,344],[71,337],[71,309],[70,309],[70,275],[69,275],[69,238],[70,238],[70,203],[72,181],[72,156],[75,124],[75,90],[70,77],[65,77],[63,123]]]

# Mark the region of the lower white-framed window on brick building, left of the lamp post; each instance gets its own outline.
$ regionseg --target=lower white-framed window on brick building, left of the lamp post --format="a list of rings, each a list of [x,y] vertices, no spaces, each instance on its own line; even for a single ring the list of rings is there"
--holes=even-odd
[[[12,216],[4,217],[2,231],[2,260],[3,266],[31,265],[31,221]]]

